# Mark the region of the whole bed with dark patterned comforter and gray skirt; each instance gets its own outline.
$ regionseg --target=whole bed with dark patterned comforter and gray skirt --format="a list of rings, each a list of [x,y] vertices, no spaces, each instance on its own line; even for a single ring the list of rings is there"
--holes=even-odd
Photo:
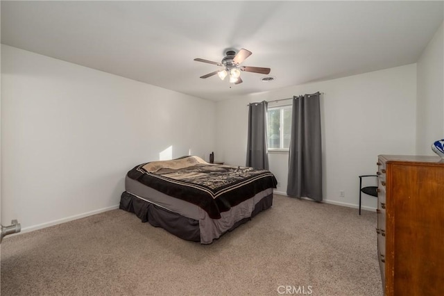
[[[210,244],[270,208],[276,184],[268,170],[198,156],[152,161],[126,174],[120,208],[179,238]]]

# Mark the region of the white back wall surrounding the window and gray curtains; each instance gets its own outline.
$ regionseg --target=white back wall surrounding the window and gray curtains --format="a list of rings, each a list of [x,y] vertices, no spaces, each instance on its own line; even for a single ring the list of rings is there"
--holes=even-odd
[[[415,154],[416,64],[219,101],[216,158],[245,165],[247,104],[324,92],[323,190],[326,202],[356,206],[361,174],[375,174],[378,154]],[[269,104],[269,106],[273,106]],[[288,154],[269,154],[270,170],[287,190]],[[345,190],[345,197],[339,191]],[[367,197],[364,208],[375,208]]]

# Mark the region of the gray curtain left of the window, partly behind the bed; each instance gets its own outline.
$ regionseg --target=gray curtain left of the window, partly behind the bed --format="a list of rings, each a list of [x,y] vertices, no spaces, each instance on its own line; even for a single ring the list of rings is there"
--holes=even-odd
[[[248,106],[247,167],[268,170],[268,148],[266,142],[267,101]]]

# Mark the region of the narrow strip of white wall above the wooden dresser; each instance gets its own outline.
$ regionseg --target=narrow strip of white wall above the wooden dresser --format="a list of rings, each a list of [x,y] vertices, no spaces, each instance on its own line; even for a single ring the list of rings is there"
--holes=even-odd
[[[418,60],[416,151],[436,155],[430,148],[444,138],[444,23]]]

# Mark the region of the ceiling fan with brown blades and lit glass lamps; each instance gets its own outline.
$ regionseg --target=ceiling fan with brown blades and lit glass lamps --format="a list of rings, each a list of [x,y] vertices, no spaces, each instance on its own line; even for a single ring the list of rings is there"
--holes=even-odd
[[[259,74],[270,73],[270,68],[239,66],[239,64],[244,62],[244,60],[251,56],[251,54],[252,52],[246,49],[239,50],[237,54],[234,50],[228,50],[225,53],[226,56],[222,59],[221,63],[212,62],[211,60],[204,60],[203,58],[195,58],[194,60],[196,60],[197,62],[209,63],[212,65],[217,65],[219,67],[223,67],[223,69],[200,76],[200,78],[205,79],[218,74],[219,78],[222,80],[225,79],[226,76],[228,76],[230,78],[230,83],[239,84],[242,83],[241,71]]]

